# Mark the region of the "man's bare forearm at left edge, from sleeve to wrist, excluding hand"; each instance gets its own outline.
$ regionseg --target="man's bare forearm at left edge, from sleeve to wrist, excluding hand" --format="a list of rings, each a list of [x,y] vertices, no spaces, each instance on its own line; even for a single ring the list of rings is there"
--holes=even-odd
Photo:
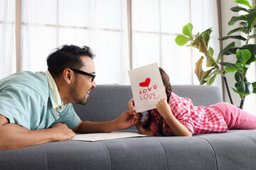
[[[13,123],[0,126],[0,149],[17,149],[55,140],[51,129],[28,130]]]

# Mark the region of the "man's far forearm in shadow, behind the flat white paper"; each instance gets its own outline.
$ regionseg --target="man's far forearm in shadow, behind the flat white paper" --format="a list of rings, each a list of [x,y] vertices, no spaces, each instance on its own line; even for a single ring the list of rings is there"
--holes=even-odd
[[[79,133],[97,133],[97,132],[113,132],[115,130],[119,130],[117,128],[117,123],[114,120],[106,121],[106,122],[90,122],[83,121],[79,128]]]

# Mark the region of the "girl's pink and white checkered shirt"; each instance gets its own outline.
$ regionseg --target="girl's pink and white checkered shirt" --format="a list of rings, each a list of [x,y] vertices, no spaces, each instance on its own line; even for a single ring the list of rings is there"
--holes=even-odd
[[[211,106],[193,106],[189,98],[179,97],[174,92],[171,92],[169,106],[176,119],[193,134],[228,131],[228,125],[225,123],[222,114],[216,108]],[[151,115],[152,122],[149,129],[157,135],[161,115],[156,109],[151,110]],[[145,121],[147,119],[148,113],[146,113]],[[165,120],[163,131],[167,134],[174,135]]]

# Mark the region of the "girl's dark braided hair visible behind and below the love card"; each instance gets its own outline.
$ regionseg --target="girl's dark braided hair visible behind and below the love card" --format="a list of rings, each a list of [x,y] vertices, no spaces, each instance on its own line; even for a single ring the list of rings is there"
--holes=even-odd
[[[164,72],[164,69],[161,69],[159,67],[159,71],[160,71],[160,74],[161,74],[161,79],[163,81],[163,84],[166,88],[167,103],[169,103],[169,99],[170,99],[171,91],[172,91],[170,79],[169,79],[168,74],[166,74],[166,72]],[[149,126],[151,125],[151,121],[152,121],[151,110],[148,111],[148,113],[149,113],[148,120],[146,120],[146,122],[143,123],[143,128],[144,129],[149,128]],[[158,125],[159,128],[158,129],[159,129],[159,134],[162,135],[162,136],[164,136],[163,122],[164,122],[164,118],[161,116],[161,118],[159,120],[159,125]]]

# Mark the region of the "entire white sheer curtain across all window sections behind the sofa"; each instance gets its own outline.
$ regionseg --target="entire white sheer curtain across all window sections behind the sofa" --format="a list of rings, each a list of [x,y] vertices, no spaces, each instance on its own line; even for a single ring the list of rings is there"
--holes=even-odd
[[[0,76],[21,70],[46,71],[51,50],[73,44],[87,45],[95,52],[97,84],[129,84],[129,69],[152,62],[166,70],[172,84],[199,84],[193,70],[201,54],[174,40],[188,22],[193,23],[195,35],[212,27],[210,47],[216,57],[216,1],[22,0],[21,51],[16,52],[16,1],[0,0]],[[130,17],[127,13],[131,12]],[[16,53],[21,54],[17,70]],[[214,85],[221,89],[220,77]]]

